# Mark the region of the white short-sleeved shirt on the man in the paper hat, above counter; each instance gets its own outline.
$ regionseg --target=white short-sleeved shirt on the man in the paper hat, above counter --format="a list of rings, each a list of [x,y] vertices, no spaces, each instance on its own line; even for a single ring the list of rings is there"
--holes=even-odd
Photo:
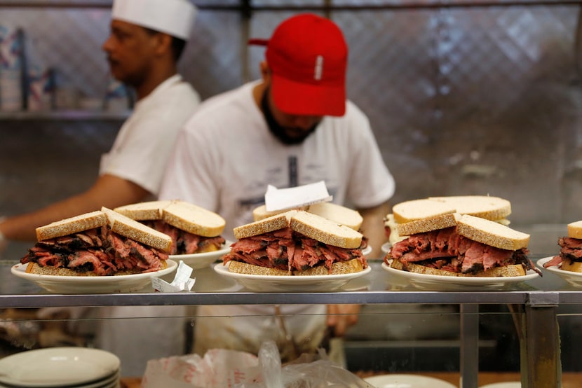
[[[119,176],[157,195],[177,133],[199,103],[182,76],[165,80],[135,104],[113,147],[102,155],[99,174]]]

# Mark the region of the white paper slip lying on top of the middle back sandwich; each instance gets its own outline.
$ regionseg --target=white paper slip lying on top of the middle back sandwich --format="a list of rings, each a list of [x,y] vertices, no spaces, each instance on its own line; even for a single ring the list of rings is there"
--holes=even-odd
[[[324,181],[290,188],[269,185],[265,193],[265,209],[267,212],[276,212],[318,202],[330,202],[332,199]]]

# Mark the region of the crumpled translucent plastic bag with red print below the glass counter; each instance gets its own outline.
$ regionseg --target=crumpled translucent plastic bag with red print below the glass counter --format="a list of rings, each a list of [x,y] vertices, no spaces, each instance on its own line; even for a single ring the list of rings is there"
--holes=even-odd
[[[150,360],[142,388],[323,388],[369,387],[370,384],[319,354],[302,354],[281,365],[277,345],[264,342],[259,356],[226,349]]]

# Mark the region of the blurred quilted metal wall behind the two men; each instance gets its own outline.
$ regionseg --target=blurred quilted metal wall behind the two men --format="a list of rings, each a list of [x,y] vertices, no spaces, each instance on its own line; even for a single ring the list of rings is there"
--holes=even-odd
[[[532,236],[534,253],[542,239],[548,244],[539,250],[555,249],[553,233],[582,218],[577,1],[194,4],[200,12],[180,70],[203,98],[258,78],[264,49],[248,47],[249,37],[269,37],[281,20],[304,11],[337,22],[350,46],[348,95],[370,117],[395,176],[393,203],[501,196],[512,202],[513,226],[543,230]],[[45,93],[54,91],[40,103],[27,99],[22,110],[0,100],[0,215],[36,209],[93,182],[126,117],[126,99],[101,50],[110,6],[0,1],[5,42],[21,29],[28,75],[51,74],[41,82]]]

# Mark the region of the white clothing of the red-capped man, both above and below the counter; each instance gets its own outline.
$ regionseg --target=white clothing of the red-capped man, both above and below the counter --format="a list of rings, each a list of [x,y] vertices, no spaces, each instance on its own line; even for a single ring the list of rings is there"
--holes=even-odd
[[[334,202],[374,207],[394,192],[370,124],[347,102],[341,118],[325,117],[302,144],[273,137],[248,83],[201,104],[178,134],[160,190],[161,199],[186,200],[226,220],[224,237],[252,222],[268,184],[277,188],[323,180]],[[284,347],[282,321],[273,306],[198,306],[194,350],[212,347],[258,352],[264,339]],[[287,331],[303,351],[314,349],[325,330],[324,305],[281,305]],[[245,315],[243,319],[233,317]],[[265,317],[267,315],[268,317]]]

